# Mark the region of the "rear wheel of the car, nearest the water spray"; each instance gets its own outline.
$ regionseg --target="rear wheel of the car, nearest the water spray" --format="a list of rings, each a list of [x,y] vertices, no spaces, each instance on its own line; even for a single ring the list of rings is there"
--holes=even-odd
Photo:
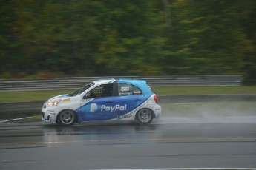
[[[151,121],[154,118],[154,115],[150,109],[143,108],[137,112],[135,118],[137,120],[137,123],[141,125],[146,125],[151,123]]]

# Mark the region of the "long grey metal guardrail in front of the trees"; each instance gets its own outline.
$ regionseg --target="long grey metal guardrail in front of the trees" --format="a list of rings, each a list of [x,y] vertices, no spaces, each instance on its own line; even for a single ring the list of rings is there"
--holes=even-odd
[[[240,86],[240,75],[202,75],[202,76],[114,76],[114,77],[75,77],[47,79],[0,79],[0,92],[31,91],[53,89],[77,89],[91,81],[105,78],[142,79],[149,86]]]

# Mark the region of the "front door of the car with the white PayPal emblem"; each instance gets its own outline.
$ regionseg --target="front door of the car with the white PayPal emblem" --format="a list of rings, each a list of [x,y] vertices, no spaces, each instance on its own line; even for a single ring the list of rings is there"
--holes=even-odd
[[[76,113],[80,121],[114,118],[113,84],[102,84],[91,89],[82,98],[84,103]]]

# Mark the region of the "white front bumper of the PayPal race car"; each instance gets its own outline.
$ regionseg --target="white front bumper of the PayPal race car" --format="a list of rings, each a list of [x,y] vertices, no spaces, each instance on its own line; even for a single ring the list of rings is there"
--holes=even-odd
[[[46,106],[43,106],[42,108],[42,120],[46,123],[57,123],[57,115],[59,113],[59,110],[56,108],[47,108]]]

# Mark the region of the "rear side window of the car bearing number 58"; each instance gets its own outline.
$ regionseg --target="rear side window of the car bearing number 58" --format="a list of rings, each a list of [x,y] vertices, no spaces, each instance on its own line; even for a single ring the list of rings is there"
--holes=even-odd
[[[131,84],[118,84],[118,95],[142,95],[142,91]]]

